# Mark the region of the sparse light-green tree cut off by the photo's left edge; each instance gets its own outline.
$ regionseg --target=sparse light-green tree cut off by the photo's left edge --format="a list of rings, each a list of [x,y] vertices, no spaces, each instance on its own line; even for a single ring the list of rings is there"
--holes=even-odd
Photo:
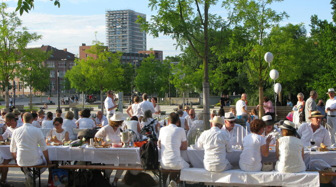
[[[9,80],[20,69],[20,60],[28,43],[40,39],[36,32],[30,33],[22,26],[22,21],[15,12],[6,12],[7,4],[0,5],[0,78],[5,82],[6,107],[9,108]]]

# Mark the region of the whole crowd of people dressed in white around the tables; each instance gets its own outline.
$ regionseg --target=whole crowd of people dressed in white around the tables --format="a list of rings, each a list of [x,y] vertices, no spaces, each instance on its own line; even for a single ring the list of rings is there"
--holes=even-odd
[[[193,145],[196,149],[204,149],[204,168],[208,171],[221,172],[233,168],[226,157],[233,149],[242,149],[239,159],[241,170],[260,171],[263,167],[262,156],[267,157],[270,146],[274,146],[278,158],[275,170],[301,172],[306,169],[303,161],[304,146],[312,146],[312,141],[316,145],[334,144],[334,125],[336,124],[334,89],[328,89],[327,94],[330,99],[327,100],[324,111],[327,113],[328,129],[321,124],[325,115],[318,110],[314,101],[317,98],[315,91],[310,92],[310,97],[306,101],[303,100],[302,93],[298,94],[299,101],[294,106],[297,108],[295,112],[298,115],[302,112],[306,114],[304,120],[301,117],[300,125],[290,120],[274,121],[273,105],[267,97],[264,97],[264,104],[259,105],[265,109],[265,115],[259,119],[255,110],[251,113],[247,110],[245,102],[247,94],[243,93],[236,107],[230,108],[230,111],[225,112],[223,107],[218,111],[211,111],[211,128],[208,130],[204,129],[203,112],[195,112],[195,109],[188,105],[184,108],[183,105],[179,105],[177,112],[169,114],[167,124],[162,125],[155,118],[155,115],[160,114],[157,98],[152,97],[148,101],[146,93],[142,94],[141,102],[139,96],[134,96],[134,103],[126,110],[130,120],[125,121],[126,118],[122,112],[115,111],[117,105],[113,92],[107,91],[104,101],[106,116],[102,111],[98,111],[95,118],[91,116],[89,109],[81,110],[80,118],[75,119],[71,111],[68,111],[63,118],[60,109],[56,110],[56,116],[53,116],[52,112],[45,114],[43,109],[20,115],[18,110],[7,112],[6,108],[3,108],[1,109],[3,123],[0,127],[5,132],[0,135],[0,140],[11,138],[13,158],[18,165],[24,166],[23,171],[28,186],[32,185],[34,179],[25,166],[51,163],[47,144],[62,144],[65,141],[77,139],[74,128],[98,127],[95,137],[102,138],[106,143],[119,143],[120,131],[125,128],[134,132],[133,139],[137,141],[145,138],[140,131],[148,127],[154,137],[152,139],[157,139],[157,146],[161,149],[159,161],[163,169],[181,170],[190,167],[190,164],[181,156],[181,150],[186,150],[188,145]],[[226,103],[224,100],[223,106]],[[322,103],[319,102],[319,104]],[[244,122],[243,125],[237,123],[239,119]],[[38,128],[46,128],[50,131],[45,135]],[[38,153],[38,144],[44,156]],[[5,159],[3,163],[6,164],[9,161],[10,159]],[[1,168],[0,171],[2,173],[0,185],[12,186],[6,180],[8,168]],[[107,178],[110,177],[111,172],[111,170],[105,171]],[[112,186],[117,186],[122,172],[123,170],[116,171]],[[168,176],[171,178],[170,186],[177,186],[180,183],[178,172],[163,173],[164,179]]]

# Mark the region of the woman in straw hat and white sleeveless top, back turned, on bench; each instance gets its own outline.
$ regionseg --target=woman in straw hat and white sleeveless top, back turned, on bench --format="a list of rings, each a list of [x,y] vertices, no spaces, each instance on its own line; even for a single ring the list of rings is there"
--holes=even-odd
[[[285,120],[281,128],[282,137],[276,141],[275,154],[279,159],[275,170],[279,172],[302,172],[305,170],[303,161],[303,143],[297,134],[295,124]]]

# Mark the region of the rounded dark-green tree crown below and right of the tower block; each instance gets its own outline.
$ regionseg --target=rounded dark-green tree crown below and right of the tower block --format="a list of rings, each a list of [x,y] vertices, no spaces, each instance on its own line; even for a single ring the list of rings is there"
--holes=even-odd
[[[153,95],[167,87],[169,73],[169,63],[155,60],[155,56],[150,55],[136,69],[135,86],[140,92]]]

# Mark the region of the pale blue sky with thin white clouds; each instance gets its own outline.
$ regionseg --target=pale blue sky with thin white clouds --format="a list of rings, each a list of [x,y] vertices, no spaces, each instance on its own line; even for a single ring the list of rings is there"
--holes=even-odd
[[[8,11],[14,11],[18,0],[4,0],[9,4]],[[147,20],[156,11],[148,7],[148,0],[60,0],[61,7],[54,6],[51,0],[35,0],[35,8],[30,13],[24,13],[19,17],[23,20],[23,26],[29,31],[42,34],[43,38],[30,43],[28,47],[51,45],[58,49],[67,48],[69,52],[79,53],[82,43],[92,44],[97,31],[97,39],[106,42],[105,38],[105,10],[131,9],[145,13]],[[304,23],[309,32],[310,16],[317,14],[320,19],[331,21],[330,0],[284,0],[273,3],[274,10],[286,11],[289,18],[280,22]],[[224,8],[218,5],[210,9],[211,13],[226,16]],[[160,35],[153,38],[147,34],[147,49],[162,50],[163,56],[174,56],[181,53],[176,49],[176,42],[170,36]]]

